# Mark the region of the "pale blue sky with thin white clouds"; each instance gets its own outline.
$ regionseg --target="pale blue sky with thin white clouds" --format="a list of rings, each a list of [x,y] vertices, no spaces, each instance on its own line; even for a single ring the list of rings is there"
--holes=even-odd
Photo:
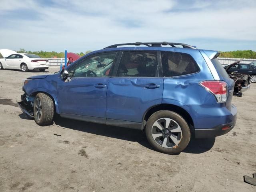
[[[163,41],[256,51],[256,0],[0,0],[0,49]]]

